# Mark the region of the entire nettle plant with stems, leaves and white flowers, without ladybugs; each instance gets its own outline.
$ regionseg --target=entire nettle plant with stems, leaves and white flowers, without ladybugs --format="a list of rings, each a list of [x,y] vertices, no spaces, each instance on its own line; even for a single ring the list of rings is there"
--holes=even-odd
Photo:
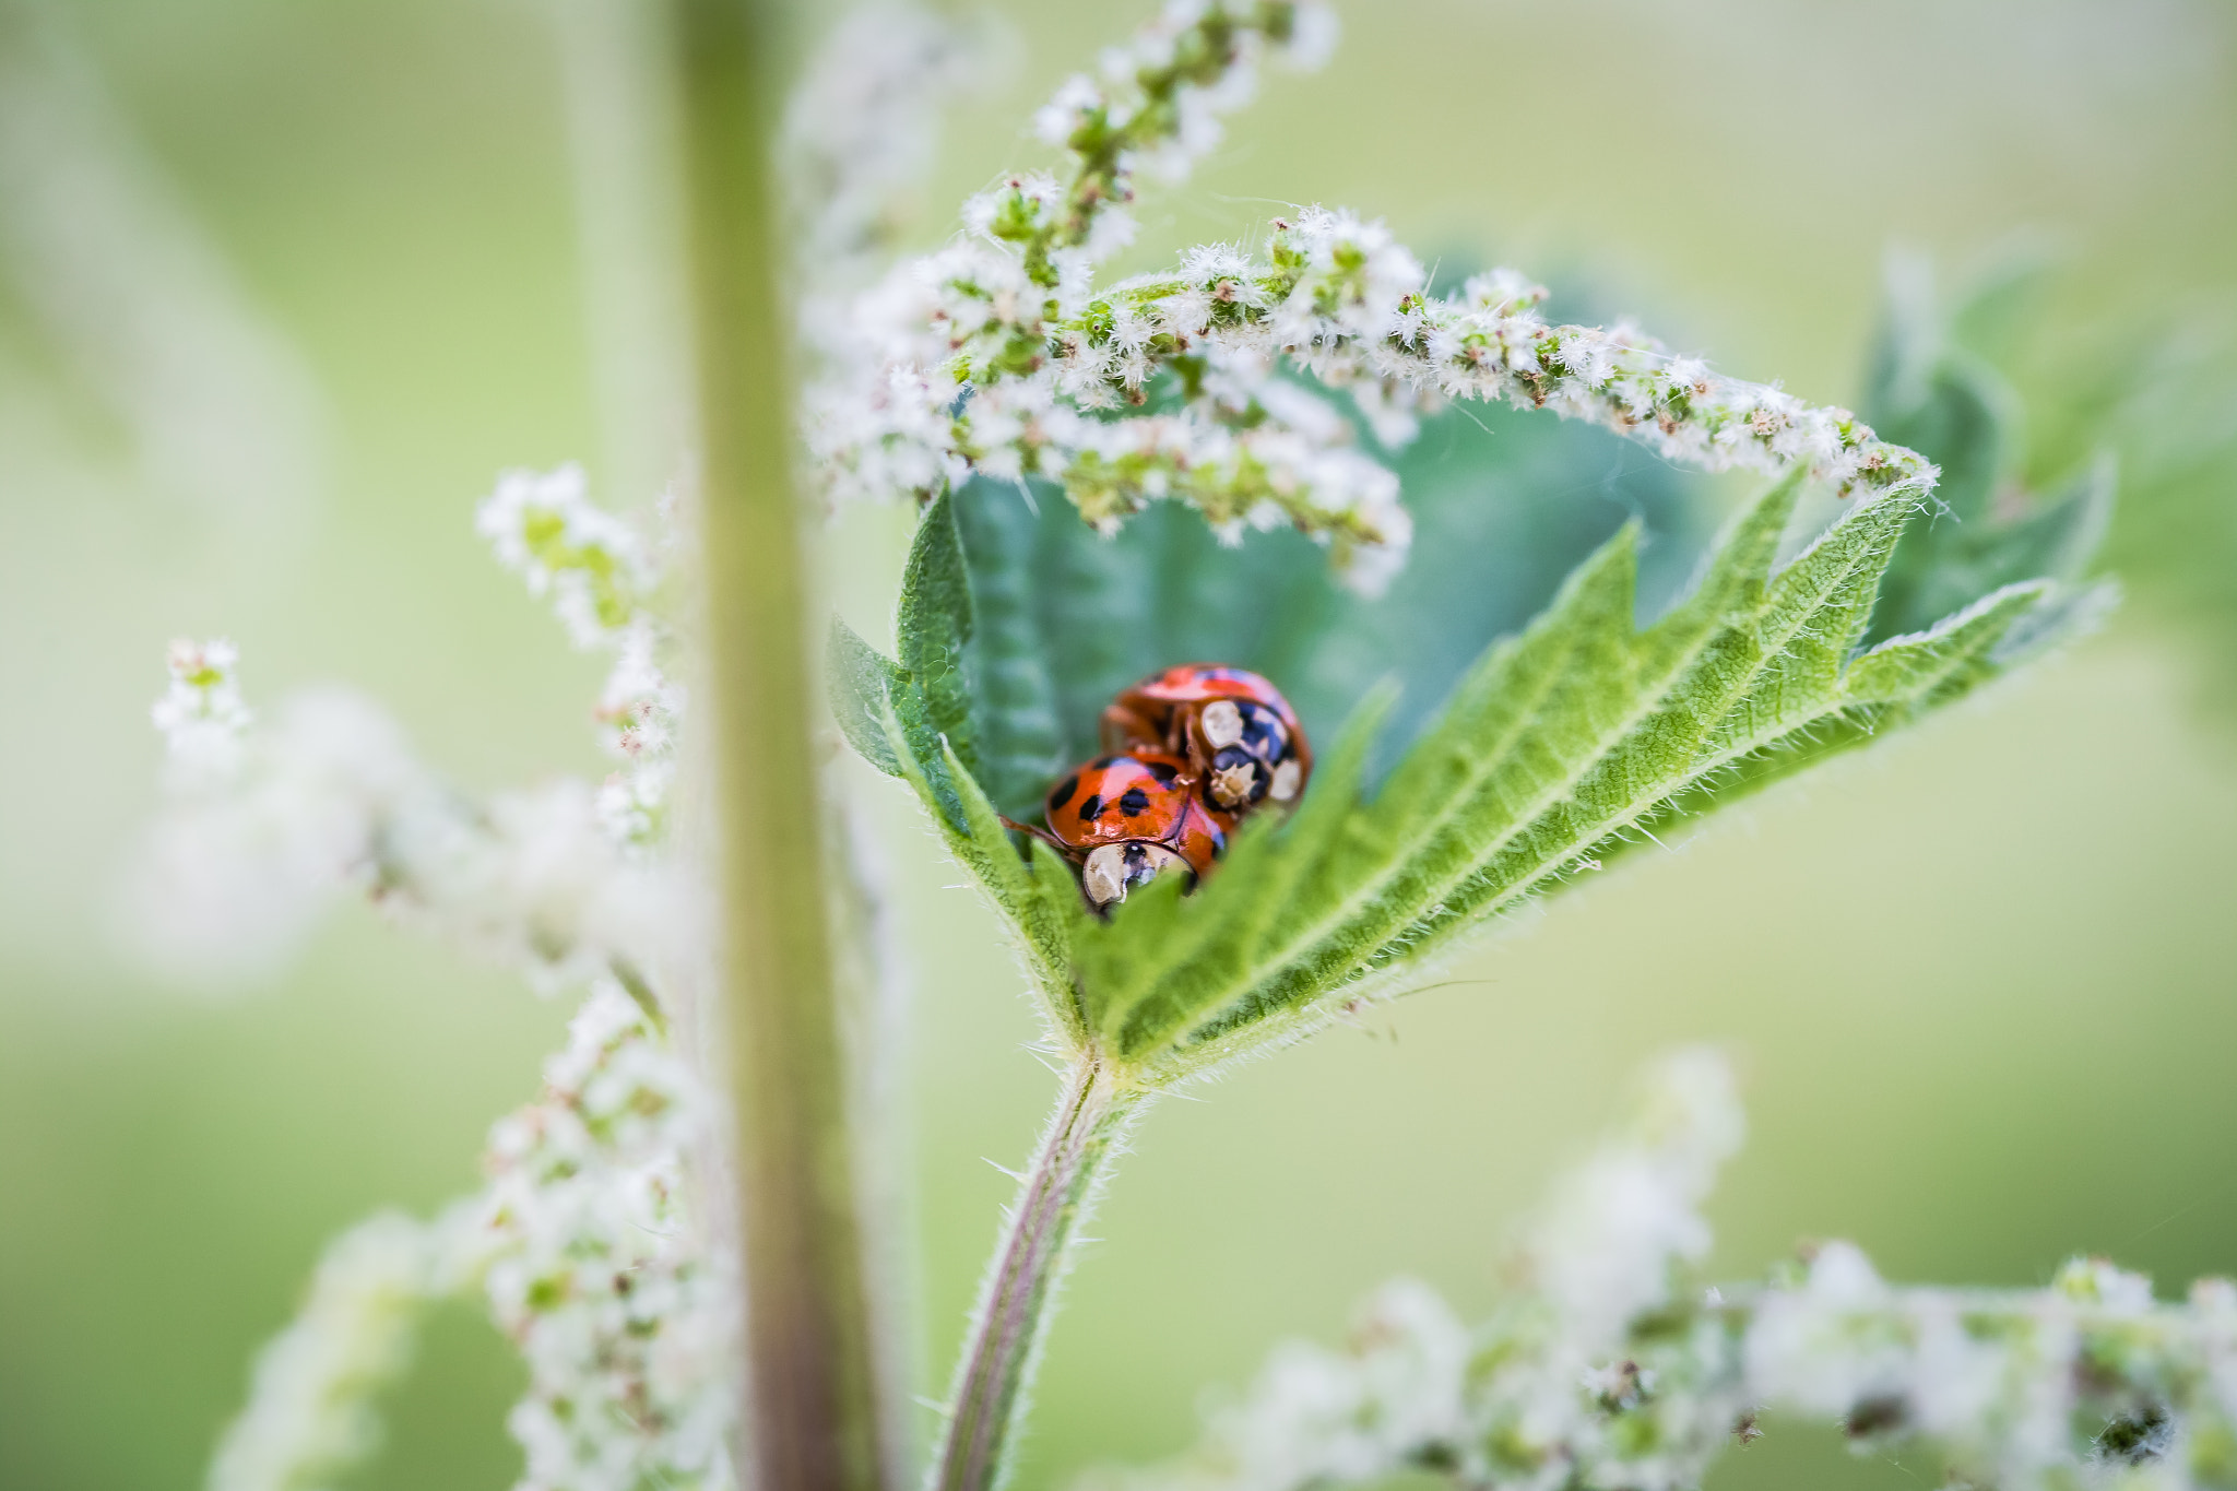
[[[1038,114],[1051,174],[1004,177],[948,246],[881,266],[922,114],[971,76],[971,45],[913,13],[843,22],[783,132],[794,396],[752,340],[785,338],[761,34],[685,0],[698,485],[644,525],[573,467],[508,474],[479,514],[611,655],[615,773],[474,800],[353,695],[257,720],[230,646],[174,646],[170,807],[141,881],[161,946],[268,955],[360,890],[588,990],[544,1093],[494,1129],[483,1191],[329,1250],[213,1487],[322,1484],[362,1455],[412,1312],[459,1292],[528,1364],[508,1419],[523,1487],[917,1475],[857,1216],[877,1006],[837,993],[893,952],[855,809],[812,769],[787,414],[825,501],[922,507],[893,657],[830,626],[830,713],[998,912],[1060,1069],[924,1457],[942,1491],[1007,1475],[1078,1227],[1161,1093],[1403,993],[1470,930],[2105,608],[2080,574],[2109,469],[2013,496],[2007,400],[1944,335],[1964,306],[1917,288],[1866,422],[1631,326],[1550,322],[1510,270],[1441,293],[1380,224],[1324,208],[1098,284],[1136,179],[1183,174],[1262,63],[1331,40],[1311,4],[1168,7]],[[1655,456],[1617,478],[1640,519],[1514,501],[1622,443]],[[1678,465],[1763,476],[1691,572],[1711,525]],[[1318,771],[1217,874],[1089,910],[1074,865],[1011,823],[1094,753],[1116,688],[1190,657],[1277,677]],[[850,872],[825,885],[821,858]],[[1698,1205],[1736,1142],[1718,1060],[1673,1057],[1528,1234],[1488,1326],[1394,1285],[1349,1355],[1286,1350],[1143,1480],[1660,1491],[1783,1406],[1863,1444],[1919,1437],[1973,1484],[2237,1484],[2228,1285],[2159,1305],[2076,1263],[2042,1292],[1893,1290],[1828,1245],[1702,1290]]]

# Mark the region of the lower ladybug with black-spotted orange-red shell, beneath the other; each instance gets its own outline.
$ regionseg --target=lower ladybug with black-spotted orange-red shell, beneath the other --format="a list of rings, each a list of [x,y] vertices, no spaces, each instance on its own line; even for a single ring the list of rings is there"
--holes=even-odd
[[[1080,861],[1098,908],[1172,867],[1210,874],[1233,827],[1197,800],[1188,762],[1161,751],[1094,758],[1049,791],[1047,809],[1049,838]]]

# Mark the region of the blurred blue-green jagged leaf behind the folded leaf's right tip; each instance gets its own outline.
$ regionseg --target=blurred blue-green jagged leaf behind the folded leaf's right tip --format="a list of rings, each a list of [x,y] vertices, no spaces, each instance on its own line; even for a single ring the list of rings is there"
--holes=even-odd
[[[2076,579],[2112,521],[2114,467],[2087,460],[2056,496],[2027,492],[2024,420],[1993,355],[2009,353],[2042,266],[1984,275],[1944,315],[1924,273],[1895,275],[1863,416],[1942,467],[1881,581],[1868,637],[1933,626],[1993,590]]]

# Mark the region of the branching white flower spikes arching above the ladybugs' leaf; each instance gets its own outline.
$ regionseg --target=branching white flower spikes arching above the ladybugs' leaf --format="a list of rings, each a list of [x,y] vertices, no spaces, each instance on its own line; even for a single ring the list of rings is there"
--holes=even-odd
[[[969,474],[1040,476],[1114,528],[1179,498],[1221,536],[1295,525],[1365,592],[1403,566],[1398,483],[1351,449],[1351,425],[1293,371],[1349,389],[1382,445],[1450,398],[1584,418],[1705,469],[1805,463],[1843,494],[1924,494],[1935,469],[1846,409],[1720,378],[1633,326],[1557,326],[1510,270],[1456,297],[1380,224],[1309,208],[1277,219],[1264,259],[1195,248],[1170,275],[1094,288],[1132,237],[1132,174],[1177,174],[1248,98],[1271,45],[1313,60],[1313,7],[1174,4],[1105,83],[1067,83],[1040,112],[1067,177],[1016,174],[964,206],[969,237],[899,266],[832,317],[834,373],[810,391],[808,438],[837,496],[926,498]],[[1154,400],[1154,402],[1152,402]]]

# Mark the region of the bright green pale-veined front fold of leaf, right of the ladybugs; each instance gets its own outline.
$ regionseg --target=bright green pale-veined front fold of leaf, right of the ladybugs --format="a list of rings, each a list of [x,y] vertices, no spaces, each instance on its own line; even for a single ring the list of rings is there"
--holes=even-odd
[[[1698,807],[1716,778],[1814,760],[1962,695],[2049,590],[2000,592],[1852,659],[1910,510],[1859,507],[1774,572],[1796,487],[1754,503],[1649,628],[1624,528],[1485,653],[1378,794],[1358,769],[1362,720],[1295,818],[1244,834],[1199,894],[1136,896],[1087,925],[1078,984],[1103,1048],[1163,1082],[1309,1028],[1655,814]]]

